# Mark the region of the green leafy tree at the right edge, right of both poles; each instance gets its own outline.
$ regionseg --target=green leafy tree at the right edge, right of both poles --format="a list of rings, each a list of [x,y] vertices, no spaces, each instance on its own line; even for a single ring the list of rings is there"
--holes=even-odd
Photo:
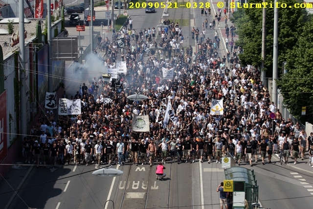
[[[302,123],[313,123],[313,15],[300,29],[296,44],[286,53],[287,73],[277,81],[284,104]],[[307,115],[301,116],[302,107]]]

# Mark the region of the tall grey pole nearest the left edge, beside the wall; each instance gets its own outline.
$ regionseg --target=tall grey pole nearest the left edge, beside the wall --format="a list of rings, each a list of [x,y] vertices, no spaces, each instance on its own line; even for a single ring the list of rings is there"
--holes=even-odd
[[[20,88],[20,124],[21,124],[21,141],[23,137],[26,137],[27,134],[27,117],[26,117],[26,82],[25,82],[25,27],[24,27],[24,1],[19,1],[19,46],[20,46],[20,81],[21,81],[21,88]],[[19,113],[17,113],[19,114]]]

